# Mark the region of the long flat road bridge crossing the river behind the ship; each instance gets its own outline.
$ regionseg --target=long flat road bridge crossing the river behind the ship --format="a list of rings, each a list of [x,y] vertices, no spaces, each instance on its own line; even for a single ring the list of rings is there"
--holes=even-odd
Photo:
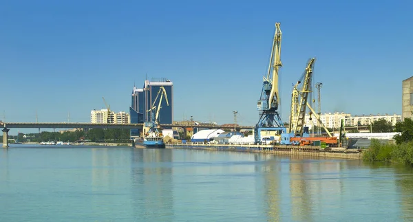
[[[8,131],[11,128],[32,128],[32,129],[140,129],[142,123],[137,124],[116,124],[116,123],[89,123],[89,122],[0,122],[3,126],[3,147],[8,147]],[[208,129],[234,129],[233,126],[220,126],[213,124],[160,124],[167,128],[208,128]],[[253,126],[237,126],[237,129],[254,129]]]

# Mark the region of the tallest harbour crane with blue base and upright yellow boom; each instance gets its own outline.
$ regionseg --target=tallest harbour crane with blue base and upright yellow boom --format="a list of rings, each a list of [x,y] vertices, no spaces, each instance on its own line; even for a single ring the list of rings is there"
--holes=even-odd
[[[279,134],[286,132],[286,128],[281,121],[278,111],[280,99],[278,75],[279,68],[282,67],[280,57],[282,32],[279,25],[279,23],[275,23],[275,34],[268,72],[263,78],[261,97],[257,102],[257,110],[260,111],[260,120],[255,125],[255,143],[261,142],[261,131],[278,131],[277,133]]]

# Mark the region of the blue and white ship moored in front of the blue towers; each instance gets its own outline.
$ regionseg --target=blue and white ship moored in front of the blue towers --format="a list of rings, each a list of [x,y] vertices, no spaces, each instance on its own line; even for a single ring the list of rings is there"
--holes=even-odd
[[[136,148],[165,148],[163,135],[153,122],[145,122],[144,129],[148,129],[142,138],[135,140]]]

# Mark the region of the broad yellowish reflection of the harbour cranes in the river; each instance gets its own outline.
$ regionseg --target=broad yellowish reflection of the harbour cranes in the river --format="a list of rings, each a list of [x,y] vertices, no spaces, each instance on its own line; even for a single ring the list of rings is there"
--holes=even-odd
[[[263,183],[256,190],[264,188],[267,221],[323,220],[326,210],[346,208],[346,197],[352,197],[359,185],[352,181],[359,175],[348,173],[360,169],[359,161],[273,155],[254,155],[254,159],[256,172],[262,173]]]

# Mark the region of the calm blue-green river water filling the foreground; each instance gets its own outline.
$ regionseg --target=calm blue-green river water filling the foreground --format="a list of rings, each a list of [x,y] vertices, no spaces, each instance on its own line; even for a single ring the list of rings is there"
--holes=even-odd
[[[413,171],[130,147],[0,150],[0,221],[413,221]]]

